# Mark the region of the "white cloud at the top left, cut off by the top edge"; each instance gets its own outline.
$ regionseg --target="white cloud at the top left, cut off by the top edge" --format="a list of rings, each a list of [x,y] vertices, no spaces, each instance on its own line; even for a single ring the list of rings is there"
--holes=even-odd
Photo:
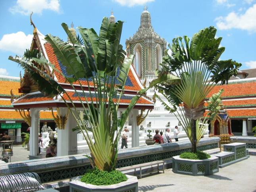
[[[16,4],[9,9],[11,13],[29,15],[31,12],[41,14],[42,10],[60,12],[59,0],[17,0]]]

